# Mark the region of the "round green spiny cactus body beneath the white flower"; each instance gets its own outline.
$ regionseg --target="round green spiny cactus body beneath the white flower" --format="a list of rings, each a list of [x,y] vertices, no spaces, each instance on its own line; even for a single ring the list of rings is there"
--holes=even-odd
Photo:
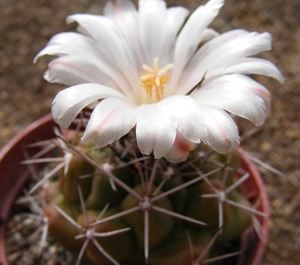
[[[60,166],[30,193],[43,194],[48,230],[76,264],[202,264],[263,215],[239,189],[249,173],[236,150],[200,145],[174,164],[141,154],[132,134],[95,148],[77,130],[56,133]],[[52,161],[41,153],[26,163]]]

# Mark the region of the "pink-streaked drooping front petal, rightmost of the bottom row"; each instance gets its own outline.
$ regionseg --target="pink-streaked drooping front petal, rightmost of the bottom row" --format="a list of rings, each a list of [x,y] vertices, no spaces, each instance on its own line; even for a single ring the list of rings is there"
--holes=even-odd
[[[239,144],[239,135],[235,122],[223,110],[201,106],[208,138],[203,140],[218,153],[225,154],[234,150]]]

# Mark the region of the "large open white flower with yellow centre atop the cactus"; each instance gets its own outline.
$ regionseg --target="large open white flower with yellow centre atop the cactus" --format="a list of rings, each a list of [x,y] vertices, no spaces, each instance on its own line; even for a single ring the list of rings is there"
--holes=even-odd
[[[228,113],[259,126],[270,103],[268,90],[244,74],[283,77],[271,62],[250,57],[271,49],[269,33],[207,28],[223,2],[210,0],[187,21],[187,9],[167,9],[162,0],[140,0],[139,10],[117,0],[104,16],[69,16],[79,33],[57,34],[35,59],[59,56],[45,78],[70,86],[53,101],[55,121],[68,127],[96,102],[82,140],[98,146],[135,128],[143,154],[172,162],[201,141],[220,153],[236,148]]]

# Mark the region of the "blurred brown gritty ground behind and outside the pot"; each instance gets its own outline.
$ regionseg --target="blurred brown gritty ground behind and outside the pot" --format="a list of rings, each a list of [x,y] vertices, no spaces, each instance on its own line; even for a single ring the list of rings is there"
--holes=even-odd
[[[65,24],[67,15],[101,13],[105,2],[0,0],[0,147],[35,119],[48,114],[53,97],[63,88],[43,80],[47,60],[34,65],[34,56],[51,36],[75,28]],[[190,10],[205,3],[167,2]],[[243,143],[245,149],[283,173],[264,173],[272,214],[262,265],[296,265],[300,260],[299,25],[299,0],[227,0],[212,25],[219,32],[234,28],[270,32],[273,50],[262,57],[274,62],[285,77],[284,85],[270,78],[257,78],[272,93],[272,111],[263,128]]]

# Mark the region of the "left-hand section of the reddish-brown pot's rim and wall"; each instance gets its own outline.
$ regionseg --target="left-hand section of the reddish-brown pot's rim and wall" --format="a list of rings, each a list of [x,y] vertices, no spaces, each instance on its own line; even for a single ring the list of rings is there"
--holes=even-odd
[[[48,115],[28,126],[13,138],[0,153],[0,264],[8,264],[5,254],[5,223],[12,205],[29,177],[27,165],[22,165],[26,152],[24,147],[37,141],[53,138],[55,123]],[[34,148],[26,149],[29,156],[36,153]]]

